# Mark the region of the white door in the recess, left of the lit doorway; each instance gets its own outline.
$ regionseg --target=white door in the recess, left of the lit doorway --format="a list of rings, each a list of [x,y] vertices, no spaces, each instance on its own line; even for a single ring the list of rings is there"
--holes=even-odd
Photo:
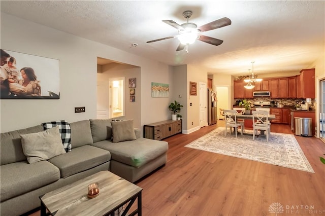
[[[97,119],[109,118],[109,82],[97,83]]]

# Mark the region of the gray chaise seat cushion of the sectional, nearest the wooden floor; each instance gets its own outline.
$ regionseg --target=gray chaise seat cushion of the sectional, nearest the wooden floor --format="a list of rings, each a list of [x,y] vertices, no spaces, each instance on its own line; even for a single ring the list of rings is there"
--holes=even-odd
[[[168,142],[147,138],[118,143],[103,140],[94,142],[93,146],[108,150],[112,160],[134,167],[141,167],[168,151]]]

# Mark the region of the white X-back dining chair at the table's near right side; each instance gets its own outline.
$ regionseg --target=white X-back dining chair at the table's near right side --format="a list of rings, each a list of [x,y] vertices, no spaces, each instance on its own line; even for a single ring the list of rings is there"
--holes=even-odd
[[[268,111],[252,111],[253,114],[253,140],[257,130],[265,130],[266,140],[269,141],[271,135],[271,123],[269,123]]]

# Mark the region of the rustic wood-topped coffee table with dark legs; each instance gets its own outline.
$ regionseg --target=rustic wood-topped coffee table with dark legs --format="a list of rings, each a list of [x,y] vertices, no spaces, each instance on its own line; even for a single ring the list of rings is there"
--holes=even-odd
[[[100,184],[100,194],[88,198],[87,186],[93,182]],[[114,215],[115,210],[129,202],[123,212],[126,215],[135,200],[138,208],[129,215],[141,215],[141,192],[142,188],[124,178],[101,171],[40,196],[41,215]]]

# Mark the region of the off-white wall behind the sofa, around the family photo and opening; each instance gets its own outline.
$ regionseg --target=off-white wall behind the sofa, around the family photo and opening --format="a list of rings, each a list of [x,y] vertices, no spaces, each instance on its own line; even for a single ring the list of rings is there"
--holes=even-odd
[[[1,13],[1,48],[60,60],[60,99],[2,99],[1,132],[46,121],[96,118],[97,57],[141,67],[141,125],[170,118],[170,98],[151,98],[151,82],[172,83],[172,67]],[[74,113],[85,106],[85,113]],[[158,115],[157,115],[158,114]]]

